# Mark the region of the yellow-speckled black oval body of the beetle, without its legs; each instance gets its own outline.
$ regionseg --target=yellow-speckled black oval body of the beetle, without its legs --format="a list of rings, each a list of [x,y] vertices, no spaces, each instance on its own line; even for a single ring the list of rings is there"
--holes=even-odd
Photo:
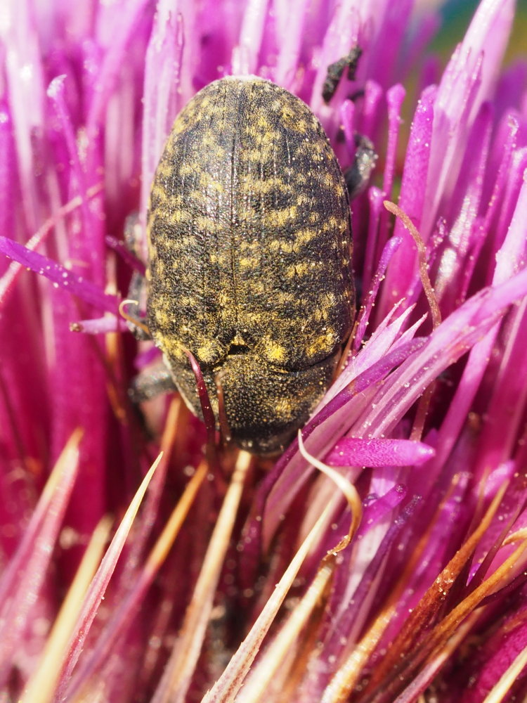
[[[148,327],[200,415],[194,354],[233,441],[278,451],[323,396],[351,331],[351,224],[325,131],[285,89],[227,77],[177,117],[148,214]]]

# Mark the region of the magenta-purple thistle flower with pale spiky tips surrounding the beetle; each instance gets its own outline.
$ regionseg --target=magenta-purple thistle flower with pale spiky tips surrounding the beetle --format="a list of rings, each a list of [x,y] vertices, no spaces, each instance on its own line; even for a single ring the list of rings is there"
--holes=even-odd
[[[441,72],[412,0],[4,6],[0,700],[526,697],[514,11],[482,0]],[[379,153],[353,203],[351,347],[274,463],[215,459],[177,396],[139,415],[127,388],[156,350],[119,316],[143,269],[125,221],[143,232],[171,122],[249,73],[311,106],[342,167],[355,134]]]

